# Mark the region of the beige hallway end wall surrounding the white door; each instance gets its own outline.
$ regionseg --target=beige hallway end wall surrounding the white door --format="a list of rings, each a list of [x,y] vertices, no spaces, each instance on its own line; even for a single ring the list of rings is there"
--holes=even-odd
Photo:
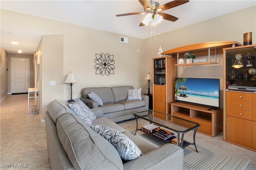
[[[8,93],[12,93],[12,85],[11,85],[11,64],[12,64],[12,58],[25,58],[25,59],[29,59],[29,88],[33,88],[34,87],[34,59],[33,59],[33,55],[28,55],[28,54],[14,54],[14,53],[8,53]]]

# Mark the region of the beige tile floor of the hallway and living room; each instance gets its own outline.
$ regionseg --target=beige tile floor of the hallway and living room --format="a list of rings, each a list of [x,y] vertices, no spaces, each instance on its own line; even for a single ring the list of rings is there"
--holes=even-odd
[[[27,114],[27,94],[7,95],[0,106],[0,169],[49,170],[45,123],[38,113]],[[119,125],[129,130],[135,127],[136,121]],[[191,139],[192,133],[185,135],[185,140]],[[256,169],[256,152],[222,141],[222,134],[212,138],[197,133],[196,143],[227,156],[248,158],[251,161],[246,170]]]

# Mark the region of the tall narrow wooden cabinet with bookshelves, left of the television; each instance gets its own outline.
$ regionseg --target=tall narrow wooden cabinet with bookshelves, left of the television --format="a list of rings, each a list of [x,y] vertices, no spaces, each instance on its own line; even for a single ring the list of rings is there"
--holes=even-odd
[[[176,59],[173,57],[158,57],[152,59],[153,64],[153,109],[170,114],[170,103],[174,101],[174,77],[176,76]],[[167,119],[165,115],[155,114],[155,117]]]

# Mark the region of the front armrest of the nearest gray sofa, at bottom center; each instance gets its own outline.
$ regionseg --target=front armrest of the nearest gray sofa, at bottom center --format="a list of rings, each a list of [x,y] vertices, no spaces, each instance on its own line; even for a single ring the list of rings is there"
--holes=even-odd
[[[184,153],[177,145],[167,143],[143,154],[135,160],[124,163],[125,169],[173,169],[183,170]]]

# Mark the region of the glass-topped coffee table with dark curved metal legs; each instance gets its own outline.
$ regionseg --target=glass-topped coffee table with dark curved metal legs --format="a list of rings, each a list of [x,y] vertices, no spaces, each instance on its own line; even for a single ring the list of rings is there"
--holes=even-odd
[[[164,114],[167,117],[167,119],[163,120],[158,117],[154,117],[155,114],[157,114],[157,115]],[[137,119],[142,118],[146,121],[149,121],[150,123],[157,124],[161,127],[164,127],[166,129],[176,132],[178,139],[180,139],[180,140],[178,140],[179,147],[184,148],[184,147],[187,147],[188,145],[194,145],[196,148],[196,132],[198,130],[198,127],[200,127],[200,125],[198,123],[189,121],[186,119],[182,119],[180,117],[172,116],[172,115],[169,115],[166,113],[161,113],[161,112],[155,111],[155,110],[139,111],[139,112],[134,113],[134,116],[136,119],[136,132],[137,132],[137,130],[140,130],[140,129],[138,129],[138,120]],[[182,121],[189,122],[190,127],[184,127],[184,126],[178,125],[172,121],[172,118],[177,118]],[[194,135],[193,135],[194,143],[189,143],[187,141],[184,141],[185,133],[192,131],[192,130],[194,130]],[[136,132],[134,135],[136,135]],[[162,140],[162,141],[164,141],[166,143],[172,143],[172,139],[174,139],[174,138],[176,138],[176,137],[173,136],[170,139]],[[196,152],[198,152],[197,148],[196,148]]]

